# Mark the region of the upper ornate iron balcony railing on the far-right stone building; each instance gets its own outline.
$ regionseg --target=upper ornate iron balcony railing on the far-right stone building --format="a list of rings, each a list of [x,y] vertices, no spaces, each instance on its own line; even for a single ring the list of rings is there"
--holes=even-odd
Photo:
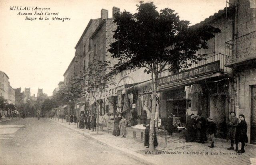
[[[227,67],[256,58],[256,31],[226,42]]]

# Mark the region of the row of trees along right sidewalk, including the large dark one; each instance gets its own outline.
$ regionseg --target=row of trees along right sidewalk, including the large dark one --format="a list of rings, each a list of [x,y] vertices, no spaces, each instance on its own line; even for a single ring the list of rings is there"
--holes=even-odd
[[[117,13],[114,23],[117,29],[108,49],[113,58],[118,59],[114,65],[114,71],[121,72],[134,67],[145,68],[144,73],[151,74],[153,87],[152,113],[150,120],[150,149],[154,149],[154,122],[156,112],[156,96],[158,74],[163,71],[177,71],[188,68],[191,63],[204,59],[207,54],[197,54],[199,49],[207,49],[207,41],[220,33],[220,29],[209,25],[200,24],[188,26],[189,21],[180,20],[178,14],[169,8],[156,10],[153,2],[143,3],[137,6],[137,13],[128,11]],[[113,74],[105,75],[110,71],[109,61],[93,60],[83,73],[77,75],[71,83],[60,89],[56,94],[59,105],[76,102],[80,97],[88,97],[89,94],[98,105],[101,93],[114,84]],[[99,93],[97,100],[95,94]],[[98,118],[98,117],[97,117]],[[97,120],[98,134],[98,120]]]

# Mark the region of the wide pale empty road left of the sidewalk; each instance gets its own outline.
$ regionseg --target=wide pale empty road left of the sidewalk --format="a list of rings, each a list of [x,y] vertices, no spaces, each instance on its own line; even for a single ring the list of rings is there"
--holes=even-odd
[[[25,118],[0,124],[0,164],[143,164],[50,122]]]

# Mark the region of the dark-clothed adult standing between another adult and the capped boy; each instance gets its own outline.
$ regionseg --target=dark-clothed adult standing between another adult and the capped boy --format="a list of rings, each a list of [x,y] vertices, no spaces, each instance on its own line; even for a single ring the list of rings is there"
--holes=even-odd
[[[202,117],[200,113],[198,113],[196,118],[196,139],[198,143],[204,144],[204,141],[207,140],[206,128],[206,119]]]

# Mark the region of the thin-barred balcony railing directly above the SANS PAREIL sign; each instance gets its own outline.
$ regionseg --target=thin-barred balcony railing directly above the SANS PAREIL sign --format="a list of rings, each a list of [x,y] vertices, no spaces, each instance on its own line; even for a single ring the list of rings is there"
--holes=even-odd
[[[209,57],[204,57],[204,59],[202,59],[201,61],[196,61],[196,63],[190,63],[191,66],[188,66],[188,68],[182,67],[182,69],[177,70],[177,71],[168,71],[168,70],[163,71],[162,73],[160,73],[158,75],[158,77],[166,77],[166,76],[173,75],[175,73],[179,73],[179,72],[182,72],[182,71],[185,71],[185,70],[188,70],[188,69],[193,69],[193,68],[196,68],[196,67],[200,67],[202,65],[206,65],[206,64],[209,64],[209,63],[212,63],[212,62],[215,62],[215,61],[220,61],[220,71],[227,73],[228,68],[225,67],[226,58],[227,58],[226,55],[221,54],[221,53],[216,54],[216,55],[210,55]]]

